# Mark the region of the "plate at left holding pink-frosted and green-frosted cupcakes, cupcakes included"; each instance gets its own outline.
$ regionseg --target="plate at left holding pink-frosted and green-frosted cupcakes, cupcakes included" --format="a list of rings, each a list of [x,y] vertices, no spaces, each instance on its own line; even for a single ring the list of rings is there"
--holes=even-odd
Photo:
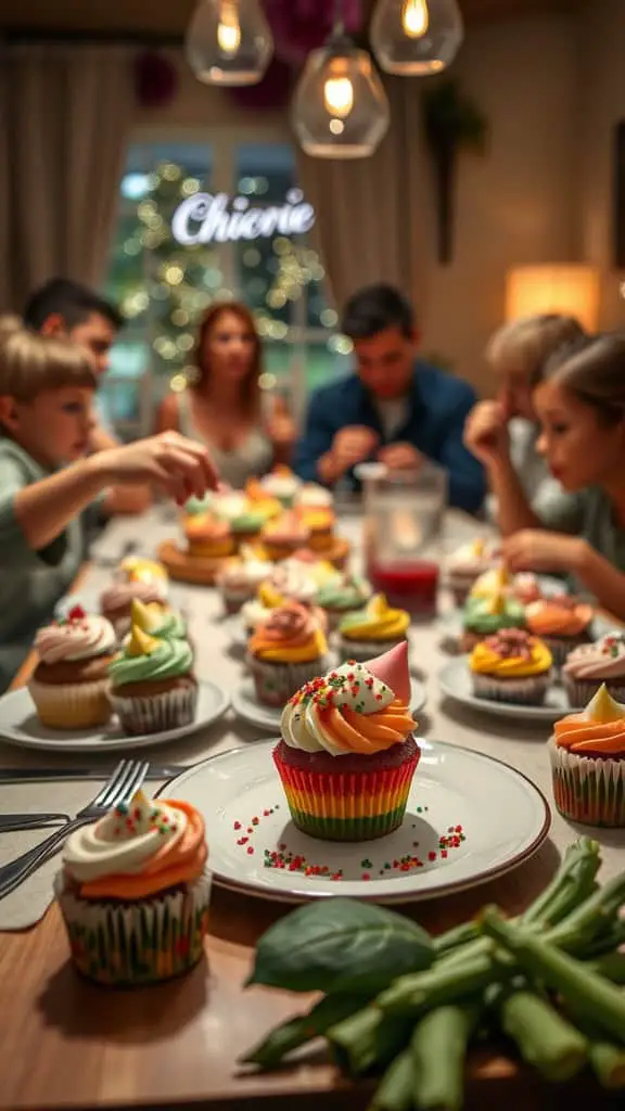
[[[121,650],[101,615],[73,609],[40,629],[27,688],[0,699],[0,737],[58,752],[137,749],[208,728],[228,709],[215,683],[199,683],[180,614],[135,599]]]

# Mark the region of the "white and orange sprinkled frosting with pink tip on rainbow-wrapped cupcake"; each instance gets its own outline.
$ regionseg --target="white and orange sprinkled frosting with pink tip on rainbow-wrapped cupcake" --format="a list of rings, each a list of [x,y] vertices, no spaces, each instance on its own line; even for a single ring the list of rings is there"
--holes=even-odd
[[[281,731],[304,752],[374,755],[406,741],[416,728],[408,709],[407,644],[368,663],[348,662],[306,683],[287,702]]]

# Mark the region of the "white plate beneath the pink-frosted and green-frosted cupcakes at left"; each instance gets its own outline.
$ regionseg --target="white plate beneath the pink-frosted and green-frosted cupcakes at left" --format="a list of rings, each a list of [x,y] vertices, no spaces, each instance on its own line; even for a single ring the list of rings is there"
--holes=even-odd
[[[180,729],[168,729],[162,733],[145,737],[127,737],[119,728],[117,718],[101,730],[77,730],[61,732],[46,729],[37,717],[32,699],[26,687],[0,698],[0,738],[23,749],[47,749],[56,752],[109,752],[132,751],[153,744],[165,744],[181,737],[190,737],[200,729],[208,729],[226,712],[230,699],[214,683],[200,683],[196,720]]]

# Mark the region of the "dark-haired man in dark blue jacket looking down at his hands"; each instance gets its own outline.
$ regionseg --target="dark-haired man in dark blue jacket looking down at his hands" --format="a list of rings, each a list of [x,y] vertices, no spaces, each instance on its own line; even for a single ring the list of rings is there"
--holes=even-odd
[[[355,293],[343,332],[354,342],[357,373],[311,398],[296,452],[302,479],[354,484],[357,463],[377,459],[391,470],[430,459],[449,479],[449,503],[476,512],[486,492],[480,463],[463,444],[475,404],[466,382],[416,359],[419,333],[408,301],[390,286]]]

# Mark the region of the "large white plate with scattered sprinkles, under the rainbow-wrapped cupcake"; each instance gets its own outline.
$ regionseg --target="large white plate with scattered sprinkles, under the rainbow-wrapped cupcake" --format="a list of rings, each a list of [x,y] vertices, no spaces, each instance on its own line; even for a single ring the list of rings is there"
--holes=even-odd
[[[430,899],[509,871],[549,831],[545,798],[519,772],[479,752],[419,740],[423,754],[403,827],[379,841],[320,841],[290,821],[271,760],[276,743],[225,752],[167,784],[167,797],[186,799],[204,814],[210,868],[227,888],[288,902],[339,894],[376,902]],[[457,840],[445,857],[442,837]],[[267,867],[272,852],[304,861],[297,870]],[[327,871],[306,874],[306,867]]]

